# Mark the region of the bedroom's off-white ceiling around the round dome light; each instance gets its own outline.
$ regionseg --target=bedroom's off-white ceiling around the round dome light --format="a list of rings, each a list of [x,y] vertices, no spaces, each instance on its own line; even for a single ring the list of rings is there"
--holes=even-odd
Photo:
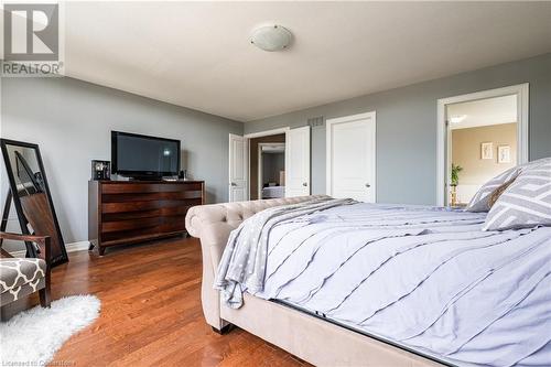
[[[551,2],[67,2],[66,74],[240,121],[551,51]],[[249,32],[276,22],[292,46]]]

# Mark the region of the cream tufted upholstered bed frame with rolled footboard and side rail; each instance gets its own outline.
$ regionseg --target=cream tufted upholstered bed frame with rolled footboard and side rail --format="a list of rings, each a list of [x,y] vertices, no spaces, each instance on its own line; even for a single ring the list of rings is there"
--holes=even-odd
[[[206,322],[218,332],[234,324],[318,366],[441,366],[400,347],[250,294],[245,294],[245,304],[239,310],[220,303],[213,281],[229,233],[244,219],[268,207],[313,197],[318,196],[202,205],[188,211],[187,231],[201,239],[203,251],[202,303]]]

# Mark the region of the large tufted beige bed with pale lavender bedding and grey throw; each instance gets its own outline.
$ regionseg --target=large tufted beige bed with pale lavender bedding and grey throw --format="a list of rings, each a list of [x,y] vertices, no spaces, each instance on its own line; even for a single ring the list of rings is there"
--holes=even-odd
[[[485,217],[307,196],[193,207],[186,227],[217,331],[324,366],[542,365],[551,228],[482,231]]]

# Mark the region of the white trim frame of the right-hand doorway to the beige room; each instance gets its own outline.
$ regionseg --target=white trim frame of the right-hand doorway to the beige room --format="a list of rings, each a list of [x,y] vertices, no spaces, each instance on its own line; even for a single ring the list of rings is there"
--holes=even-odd
[[[495,88],[469,93],[465,95],[441,98],[437,100],[437,142],[436,142],[436,205],[447,205],[447,182],[451,177],[449,159],[451,156],[450,125],[447,123],[446,106],[504,96],[517,96],[517,164],[526,163],[529,159],[529,90],[530,84],[517,84],[503,88]],[[440,188],[439,188],[440,187]]]

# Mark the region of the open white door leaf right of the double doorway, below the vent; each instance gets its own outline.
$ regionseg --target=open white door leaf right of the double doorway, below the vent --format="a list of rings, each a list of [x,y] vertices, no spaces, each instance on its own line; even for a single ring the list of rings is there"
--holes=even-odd
[[[310,127],[285,132],[285,197],[310,195]]]

